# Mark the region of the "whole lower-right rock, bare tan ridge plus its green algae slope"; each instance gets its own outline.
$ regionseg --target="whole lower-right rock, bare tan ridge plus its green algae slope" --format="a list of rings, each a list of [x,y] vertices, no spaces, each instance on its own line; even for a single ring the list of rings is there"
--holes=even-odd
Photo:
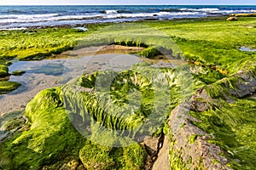
[[[172,110],[171,169],[255,167],[255,99],[245,98],[255,87],[253,71],[238,71]]]

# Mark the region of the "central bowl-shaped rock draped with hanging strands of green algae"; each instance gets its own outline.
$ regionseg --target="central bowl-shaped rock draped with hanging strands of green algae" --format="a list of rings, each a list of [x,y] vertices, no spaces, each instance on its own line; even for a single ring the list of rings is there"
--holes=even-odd
[[[136,140],[164,126],[171,109],[191,95],[191,83],[185,68],[156,69],[139,64],[129,71],[84,75],[64,85],[62,91],[70,119],[80,133],[88,135],[92,131],[86,129],[93,129],[92,137],[97,134],[104,139],[108,133],[113,139],[117,135]]]

